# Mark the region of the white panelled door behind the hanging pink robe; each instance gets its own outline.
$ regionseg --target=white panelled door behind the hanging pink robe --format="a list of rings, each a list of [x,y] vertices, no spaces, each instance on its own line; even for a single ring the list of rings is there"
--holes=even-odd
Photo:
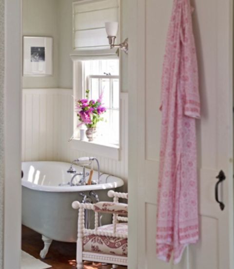
[[[197,121],[200,240],[174,266],[156,259],[155,243],[158,107],[173,0],[129,0],[130,269],[234,269],[232,2],[191,0],[202,105]],[[220,170],[226,175],[217,193],[223,211],[215,201]]]

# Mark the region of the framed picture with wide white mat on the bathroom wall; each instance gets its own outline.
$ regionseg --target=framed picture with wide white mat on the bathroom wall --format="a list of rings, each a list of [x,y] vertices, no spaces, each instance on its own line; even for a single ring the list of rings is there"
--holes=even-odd
[[[53,38],[23,37],[23,76],[53,75]]]

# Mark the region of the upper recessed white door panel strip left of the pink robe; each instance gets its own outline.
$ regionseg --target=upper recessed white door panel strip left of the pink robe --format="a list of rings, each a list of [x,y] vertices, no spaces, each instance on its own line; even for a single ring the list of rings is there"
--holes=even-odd
[[[145,159],[156,162],[160,147],[161,70],[171,12],[172,0],[145,1]]]

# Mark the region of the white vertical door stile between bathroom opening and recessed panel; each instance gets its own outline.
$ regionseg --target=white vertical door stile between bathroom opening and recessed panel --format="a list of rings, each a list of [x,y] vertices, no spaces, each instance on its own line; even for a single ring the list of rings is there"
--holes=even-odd
[[[140,10],[140,0],[128,0],[128,12],[131,11],[131,16],[128,19],[128,38],[129,38],[129,53],[128,53],[128,93],[129,93],[129,131],[128,131],[128,225],[131,227],[128,231],[128,268],[138,269],[141,268],[138,264],[139,260],[144,259],[144,253],[139,253],[138,244],[145,244],[140,242],[138,237],[139,230],[139,214],[140,214],[140,203],[138,203],[139,195],[144,196],[144,190],[139,191],[139,149],[140,147],[140,130],[141,124],[139,121],[140,107],[137,106],[140,97],[143,97],[144,102],[144,91],[140,95],[139,88],[144,83],[142,77],[139,74],[138,64],[142,63],[142,57],[144,53],[144,40],[140,38],[142,33],[142,27],[144,23],[140,23],[141,19],[144,18],[144,9]],[[142,47],[143,42],[143,47]],[[144,70],[144,67],[141,66]],[[140,85],[138,84],[140,83]],[[141,89],[144,89],[141,88]],[[137,169],[138,168],[138,169]],[[143,211],[144,212],[144,211]],[[142,215],[142,218],[145,216]]]

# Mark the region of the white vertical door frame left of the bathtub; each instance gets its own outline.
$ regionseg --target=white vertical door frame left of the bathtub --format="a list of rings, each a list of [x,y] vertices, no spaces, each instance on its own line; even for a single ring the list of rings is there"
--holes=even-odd
[[[3,268],[21,263],[21,0],[5,0]]]

